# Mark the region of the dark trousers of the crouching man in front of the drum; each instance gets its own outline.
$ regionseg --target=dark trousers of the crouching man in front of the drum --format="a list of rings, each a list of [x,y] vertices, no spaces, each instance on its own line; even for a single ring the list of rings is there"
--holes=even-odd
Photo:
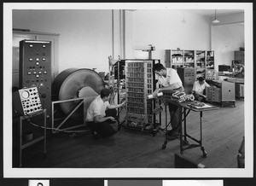
[[[106,113],[105,117],[112,116],[113,118],[116,118],[117,116],[116,109],[108,109],[106,110],[105,113]],[[94,121],[91,121],[91,122],[87,122],[87,125],[92,133],[96,131],[101,137],[111,137],[113,136],[113,134],[115,134],[118,131],[117,122],[112,121],[111,119],[108,119],[101,123],[96,123]]]

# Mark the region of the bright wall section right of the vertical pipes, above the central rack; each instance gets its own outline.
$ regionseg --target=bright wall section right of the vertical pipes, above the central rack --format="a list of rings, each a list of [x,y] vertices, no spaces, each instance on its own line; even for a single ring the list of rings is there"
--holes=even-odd
[[[132,49],[153,44],[153,58],[165,61],[165,49],[211,48],[209,18],[184,14],[182,10],[136,10],[126,15],[126,58],[134,58]],[[131,37],[131,38],[129,38]]]

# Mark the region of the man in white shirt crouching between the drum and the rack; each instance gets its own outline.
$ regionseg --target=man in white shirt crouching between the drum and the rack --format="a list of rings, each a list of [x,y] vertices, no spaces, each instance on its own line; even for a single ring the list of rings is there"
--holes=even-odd
[[[102,89],[101,95],[97,96],[86,114],[86,123],[94,138],[110,137],[118,131],[118,124],[115,120],[117,110],[125,105],[125,102],[118,105],[109,104],[110,91]]]

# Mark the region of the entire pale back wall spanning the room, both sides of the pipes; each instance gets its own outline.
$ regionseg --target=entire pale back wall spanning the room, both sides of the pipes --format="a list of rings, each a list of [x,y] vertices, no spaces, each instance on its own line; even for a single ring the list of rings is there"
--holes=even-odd
[[[122,20],[119,19],[119,10],[113,13],[113,35],[111,9],[16,9],[13,10],[13,27],[60,33],[59,72],[69,67],[96,67],[96,72],[108,72],[108,55],[117,59],[122,54]],[[225,24],[240,22],[243,14],[218,19]],[[216,50],[218,67],[218,64],[229,64],[232,50],[241,46],[244,40],[242,27],[234,24],[211,26],[210,18],[177,9],[125,11],[123,57],[134,58],[134,49],[148,44],[155,46],[153,58],[160,59],[163,64],[165,49],[212,49]]]

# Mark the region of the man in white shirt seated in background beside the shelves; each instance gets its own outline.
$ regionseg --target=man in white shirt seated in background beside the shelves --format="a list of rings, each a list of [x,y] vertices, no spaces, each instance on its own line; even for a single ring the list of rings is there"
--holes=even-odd
[[[199,77],[197,78],[197,81],[193,84],[192,94],[195,96],[195,100],[199,102],[205,102],[206,101],[206,87],[210,86],[207,84],[204,78]]]

